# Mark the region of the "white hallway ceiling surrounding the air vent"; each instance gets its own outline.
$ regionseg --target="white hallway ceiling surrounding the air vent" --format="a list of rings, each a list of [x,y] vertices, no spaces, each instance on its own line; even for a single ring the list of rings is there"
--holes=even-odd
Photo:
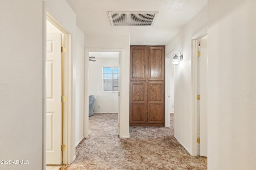
[[[130,45],[166,45],[207,0],[67,0],[84,34],[130,34]],[[155,12],[153,26],[111,26],[107,12]]]

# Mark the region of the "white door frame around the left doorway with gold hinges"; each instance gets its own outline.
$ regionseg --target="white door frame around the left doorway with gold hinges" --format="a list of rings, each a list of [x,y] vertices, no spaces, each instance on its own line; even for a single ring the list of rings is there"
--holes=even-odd
[[[63,151],[63,164],[71,163],[71,34],[63,27],[46,9],[44,8],[44,44],[46,44],[46,20],[50,21],[56,28],[64,34],[64,46],[66,53],[64,53],[64,94],[66,102],[64,102],[64,122],[63,122],[63,143],[66,145],[66,150]],[[43,58],[43,113],[46,112],[46,47],[44,48]],[[61,132],[60,132],[61,133]],[[46,114],[43,115],[43,166],[46,165]],[[74,158],[72,158],[74,160]]]

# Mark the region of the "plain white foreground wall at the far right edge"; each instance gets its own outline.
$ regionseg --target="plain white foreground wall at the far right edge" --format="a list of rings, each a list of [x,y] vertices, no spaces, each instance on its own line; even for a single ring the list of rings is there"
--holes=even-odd
[[[256,169],[256,1],[208,1],[208,169]],[[217,12],[218,11],[218,12]]]

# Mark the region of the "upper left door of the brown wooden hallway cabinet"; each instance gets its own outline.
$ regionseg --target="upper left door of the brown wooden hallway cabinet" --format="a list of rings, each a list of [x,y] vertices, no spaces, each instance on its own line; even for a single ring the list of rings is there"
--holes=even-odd
[[[130,49],[130,80],[146,80],[146,47]]]

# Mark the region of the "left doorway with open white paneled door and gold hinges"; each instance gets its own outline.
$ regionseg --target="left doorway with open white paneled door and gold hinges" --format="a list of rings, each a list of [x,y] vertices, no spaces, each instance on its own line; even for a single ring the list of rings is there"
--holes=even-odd
[[[70,162],[71,53],[70,34],[46,12],[46,132],[47,165]]]

